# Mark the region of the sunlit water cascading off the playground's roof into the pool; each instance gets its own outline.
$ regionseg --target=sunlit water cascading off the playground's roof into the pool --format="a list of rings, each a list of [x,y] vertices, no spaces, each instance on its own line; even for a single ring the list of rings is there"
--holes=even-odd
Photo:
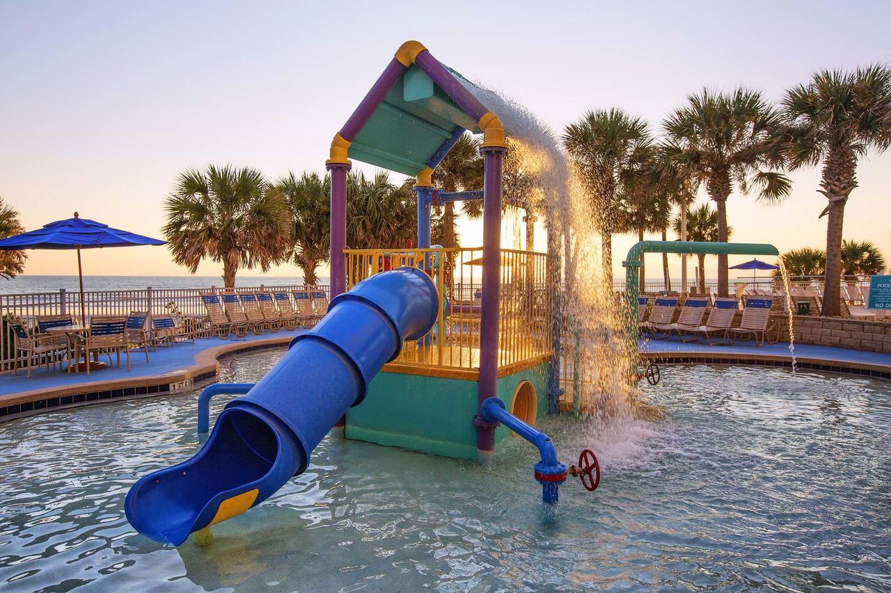
[[[575,410],[592,425],[581,438],[597,443],[599,455],[604,451],[608,459],[621,459],[623,454],[610,455],[609,449],[625,450],[629,439],[639,440],[649,431],[634,419],[636,387],[629,370],[636,370],[639,354],[629,339],[624,300],[614,292],[612,271],[604,269],[601,258],[596,228],[601,213],[594,211],[593,200],[548,126],[503,94],[466,79],[464,83],[498,114],[508,132],[509,156],[517,170],[505,171],[505,199],[519,198],[527,210],[544,214],[548,250],[559,257],[561,407]],[[526,177],[526,183],[511,175]],[[526,195],[511,195],[511,183]]]

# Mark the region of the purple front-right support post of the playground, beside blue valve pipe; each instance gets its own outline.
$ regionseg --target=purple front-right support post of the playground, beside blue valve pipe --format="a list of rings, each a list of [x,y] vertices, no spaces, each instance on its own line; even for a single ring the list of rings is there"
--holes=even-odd
[[[479,402],[496,395],[498,379],[498,302],[501,288],[501,199],[502,167],[507,149],[490,146],[480,150],[486,159],[483,197],[483,298],[479,322]],[[480,416],[477,452],[495,451],[495,426]]]

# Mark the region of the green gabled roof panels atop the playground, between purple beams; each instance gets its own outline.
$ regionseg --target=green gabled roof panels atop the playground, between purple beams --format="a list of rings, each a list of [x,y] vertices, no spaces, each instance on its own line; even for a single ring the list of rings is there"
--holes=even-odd
[[[478,131],[477,122],[427,74],[412,66],[356,134],[348,155],[404,175],[417,175],[458,128]]]

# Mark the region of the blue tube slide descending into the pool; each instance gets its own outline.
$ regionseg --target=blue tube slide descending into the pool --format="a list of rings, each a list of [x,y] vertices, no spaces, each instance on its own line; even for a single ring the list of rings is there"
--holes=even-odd
[[[229,402],[192,459],[138,480],[124,502],[136,531],[178,546],[192,532],[266,500],[310,453],[403,341],[437,319],[436,287],[415,268],[381,272],[331,300],[266,376]]]

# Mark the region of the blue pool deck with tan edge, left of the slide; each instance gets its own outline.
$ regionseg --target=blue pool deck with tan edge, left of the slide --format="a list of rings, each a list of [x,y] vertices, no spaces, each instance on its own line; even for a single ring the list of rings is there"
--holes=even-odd
[[[19,370],[18,375],[4,373],[0,375],[0,422],[46,410],[192,389],[217,380],[221,357],[282,347],[303,331],[306,329],[199,338],[194,344],[186,342],[150,350],[149,362],[142,350],[136,350],[130,353],[132,370],[127,371],[126,358],[122,357],[120,368],[110,365],[92,371],[89,377],[86,372],[72,374],[52,367],[49,371],[34,367],[31,378],[27,378],[27,370]],[[102,356],[102,361],[108,362],[108,358]]]

